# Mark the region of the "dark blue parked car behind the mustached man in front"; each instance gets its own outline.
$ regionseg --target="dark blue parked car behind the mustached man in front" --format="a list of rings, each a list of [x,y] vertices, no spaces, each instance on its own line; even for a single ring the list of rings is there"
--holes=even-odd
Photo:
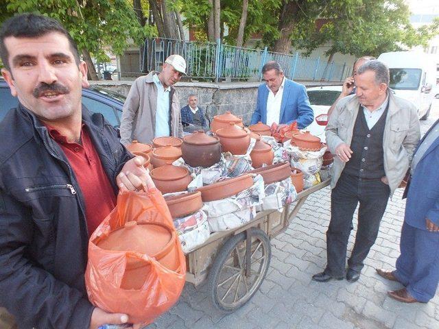
[[[122,107],[126,97],[111,90],[90,86],[82,89],[82,103],[88,110],[99,112],[115,128],[121,124]],[[0,79],[0,121],[8,110],[15,108],[19,100],[10,93],[5,80]]]

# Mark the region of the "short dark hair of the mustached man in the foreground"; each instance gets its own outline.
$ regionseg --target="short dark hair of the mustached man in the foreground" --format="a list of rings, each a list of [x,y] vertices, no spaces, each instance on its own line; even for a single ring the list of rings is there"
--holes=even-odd
[[[58,32],[69,40],[70,50],[73,53],[76,64],[80,64],[80,56],[75,41],[71,38],[60,22],[40,14],[19,14],[11,17],[3,23],[0,30],[0,58],[6,69],[10,70],[8,63],[8,49],[5,46],[5,38],[39,38],[51,32]]]

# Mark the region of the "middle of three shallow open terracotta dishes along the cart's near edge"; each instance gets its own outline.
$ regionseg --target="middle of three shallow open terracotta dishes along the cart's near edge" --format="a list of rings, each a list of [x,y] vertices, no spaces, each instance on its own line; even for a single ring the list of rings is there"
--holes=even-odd
[[[197,188],[201,192],[203,202],[225,199],[250,188],[253,185],[252,175],[241,175],[235,178],[228,178],[221,182]]]

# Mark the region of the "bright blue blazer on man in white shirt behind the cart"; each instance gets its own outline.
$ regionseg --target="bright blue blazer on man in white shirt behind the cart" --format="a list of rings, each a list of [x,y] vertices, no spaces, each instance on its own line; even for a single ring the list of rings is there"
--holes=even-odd
[[[314,112],[309,104],[307,89],[285,77],[279,123],[292,123],[297,120],[299,129],[306,128],[314,120]],[[269,90],[266,84],[258,88],[256,110],[252,116],[252,125],[261,121],[267,123],[267,99]]]

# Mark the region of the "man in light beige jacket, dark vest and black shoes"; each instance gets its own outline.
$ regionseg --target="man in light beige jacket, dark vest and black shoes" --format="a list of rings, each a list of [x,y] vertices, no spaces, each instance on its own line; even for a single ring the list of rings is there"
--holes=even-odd
[[[327,144],[335,154],[331,178],[331,222],[327,267],[313,280],[342,280],[346,247],[357,204],[358,226],[346,280],[360,277],[375,243],[388,198],[401,184],[420,138],[416,107],[392,94],[382,62],[361,65],[355,95],[341,99],[327,125]]]

